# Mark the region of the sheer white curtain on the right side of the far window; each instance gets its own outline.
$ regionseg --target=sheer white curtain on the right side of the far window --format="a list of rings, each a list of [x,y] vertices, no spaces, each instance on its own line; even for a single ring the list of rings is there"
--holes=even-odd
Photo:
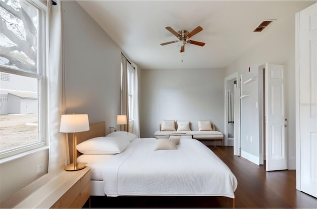
[[[134,100],[133,100],[133,130],[132,133],[140,137],[140,119],[139,119],[139,88],[138,88],[138,67],[134,68]]]

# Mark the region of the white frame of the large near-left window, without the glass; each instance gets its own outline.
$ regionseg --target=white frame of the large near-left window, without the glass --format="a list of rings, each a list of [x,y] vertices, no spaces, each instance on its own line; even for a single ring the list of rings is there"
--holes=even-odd
[[[26,3],[26,2],[24,2]],[[6,159],[14,159],[16,157],[21,157],[21,155],[27,155],[31,151],[35,151],[37,149],[43,150],[48,149],[48,141],[47,139],[47,125],[45,123],[48,116],[47,110],[47,98],[45,98],[45,92],[47,91],[47,5],[43,2],[36,1],[27,1],[28,4],[34,6],[38,9],[39,12],[39,30],[37,33],[38,40],[38,52],[37,52],[37,73],[29,72],[23,69],[16,69],[11,66],[3,66],[0,65],[0,72],[10,73],[19,76],[25,76],[30,78],[35,78],[38,80],[38,142],[30,145],[25,145],[18,148],[11,148],[8,150],[4,150],[0,152],[0,162],[6,161]]]

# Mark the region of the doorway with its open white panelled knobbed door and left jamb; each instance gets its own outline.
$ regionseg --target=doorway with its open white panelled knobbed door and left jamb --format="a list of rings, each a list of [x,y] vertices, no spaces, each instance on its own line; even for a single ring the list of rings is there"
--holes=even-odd
[[[258,67],[259,164],[266,171],[287,169],[287,132],[284,108],[284,66]]]

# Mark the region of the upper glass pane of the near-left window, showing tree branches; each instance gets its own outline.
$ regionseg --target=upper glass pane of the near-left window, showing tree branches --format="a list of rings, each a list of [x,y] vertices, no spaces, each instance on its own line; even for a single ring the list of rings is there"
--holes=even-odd
[[[0,64],[38,72],[38,9],[27,1],[1,0]]]

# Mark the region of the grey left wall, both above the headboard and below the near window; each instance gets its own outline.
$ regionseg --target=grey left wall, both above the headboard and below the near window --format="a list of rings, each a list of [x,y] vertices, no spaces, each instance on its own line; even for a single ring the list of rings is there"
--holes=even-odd
[[[76,1],[63,1],[67,113],[116,126],[121,50]],[[141,76],[141,74],[139,74]],[[109,128],[106,129],[109,131]],[[49,151],[0,164],[0,202],[48,172]],[[37,165],[44,173],[37,174]]]

